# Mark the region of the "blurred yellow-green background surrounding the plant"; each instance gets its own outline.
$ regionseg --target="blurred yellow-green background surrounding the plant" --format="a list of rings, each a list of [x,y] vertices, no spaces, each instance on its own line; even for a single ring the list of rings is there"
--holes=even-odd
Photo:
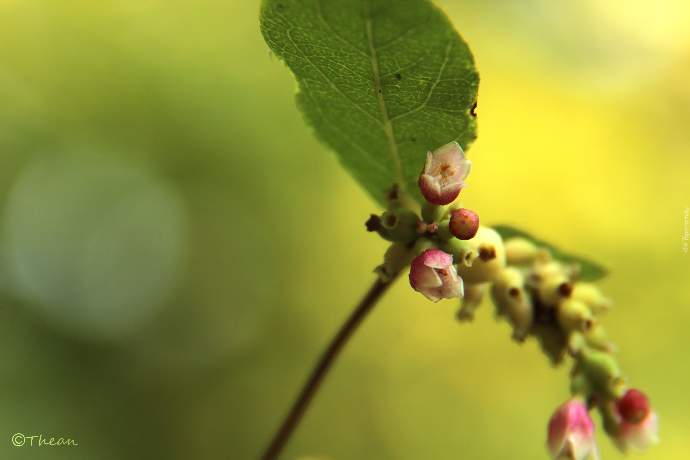
[[[613,268],[646,458],[686,458],[689,3],[443,6],[482,76],[464,205]],[[0,0],[1,458],[255,459],[373,282],[377,206],[304,127],[258,7]],[[546,459],[568,369],[456,308],[401,279],[282,458]]]

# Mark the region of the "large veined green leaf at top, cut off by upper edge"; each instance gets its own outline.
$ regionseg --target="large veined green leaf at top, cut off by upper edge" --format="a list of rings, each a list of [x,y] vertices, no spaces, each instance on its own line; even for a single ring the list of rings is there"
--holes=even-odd
[[[431,1],[264,0],[261,27],[306,123],[376,201],[397,183],[422,202],[426,152],[477,137],[472,53]]]

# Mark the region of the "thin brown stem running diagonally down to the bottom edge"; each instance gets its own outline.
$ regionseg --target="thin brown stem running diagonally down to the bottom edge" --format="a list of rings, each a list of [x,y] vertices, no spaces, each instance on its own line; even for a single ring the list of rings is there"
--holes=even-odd
[[[338,354],[343,349],[348,339],[352,337],[355,330],[357,330],[357,326],[362,323],[366,314],[371,312],[371,309],[374,308],[376,302],[381,298],[384,292],[386,292],[386,289],[393,284],[395,278],[396,277],[392,277],[388,281],[377,279],[374,285],[371,286],[371,289],[369,289],[369,292],[366,293],[366,296],[364,296],[364,299],[359,302],[357,308],[355,308],[347,321],[340,327],[340,330],[335,334],[335,337],[333,337],[328,348],[326,348],[326,351],[324,351],[321,359],[319,359],[316,367],[311,372],[311,377],[309,377],[304,384],[302,392],[299,393],[299,397],[297,397],[293,407],[290,409],[290,412],[288,412],[287,417],[285,417],[283,424],[275,434],[275,437],[273,437],[273,441],[270,441],[270,445],[266,449],[266,452],[264,452],[264,455],[262,455],[261,460],[275,460],[278,458],[293,432],[295,432],[295,428],[299,425],[299,421],[309,407],[311,400],[314,399],[314,395],[324,381],[328,370],[333,366],[333,362],[335,362]]]

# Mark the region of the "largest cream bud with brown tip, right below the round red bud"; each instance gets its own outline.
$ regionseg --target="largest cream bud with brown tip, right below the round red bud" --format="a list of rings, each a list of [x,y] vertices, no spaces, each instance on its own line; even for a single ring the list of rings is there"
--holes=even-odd
[[[472,266],[458,265],[457,274],[471,284],[493,281],[506,266],[506,252],[500,234],[491,228],[480,227],[475,237],[467,242],[470,248],[479,252],[479,257]]]

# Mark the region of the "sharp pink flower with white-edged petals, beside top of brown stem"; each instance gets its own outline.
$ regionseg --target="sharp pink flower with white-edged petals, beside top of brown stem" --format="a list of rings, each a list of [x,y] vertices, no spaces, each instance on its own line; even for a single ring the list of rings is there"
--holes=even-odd
[[[462,278],[457,276],[453,256],[439,249],[427,249],[412,261],[410,285],[427,299],[462,297]]]

